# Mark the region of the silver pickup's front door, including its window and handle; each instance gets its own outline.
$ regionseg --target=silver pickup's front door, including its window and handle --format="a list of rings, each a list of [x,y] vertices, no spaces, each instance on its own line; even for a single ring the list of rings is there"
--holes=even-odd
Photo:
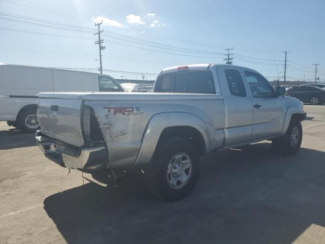
[[[282,96],[261,75],[244,71],[253,105],[252,141],[277,136],[283,128]]]

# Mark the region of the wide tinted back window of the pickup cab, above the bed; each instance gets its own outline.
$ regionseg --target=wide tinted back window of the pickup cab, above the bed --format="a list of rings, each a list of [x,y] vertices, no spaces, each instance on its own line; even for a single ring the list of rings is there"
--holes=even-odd
[[[181,71],[160,75],[154,92],[215,94],[210,71]]]

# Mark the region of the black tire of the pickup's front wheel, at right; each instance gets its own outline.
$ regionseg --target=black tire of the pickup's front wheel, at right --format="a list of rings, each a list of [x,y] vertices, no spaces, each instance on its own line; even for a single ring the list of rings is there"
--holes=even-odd
[[[293,132],[298,131],[298,136],[294,135]],[[296,140],[291,141],[291,136],[296,137]],[[295,155],[298,153],[301,142],[303,139],[303,128],[300,120],[297,118],[291,118],[289,127],[285,135],[281,138],[272,140],[272,149],[282,155]],[[296,141],[296,142],[295,142]]]

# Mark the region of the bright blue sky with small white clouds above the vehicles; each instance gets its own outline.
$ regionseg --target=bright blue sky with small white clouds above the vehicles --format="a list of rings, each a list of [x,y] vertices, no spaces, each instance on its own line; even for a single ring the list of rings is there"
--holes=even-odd
[[[233,64],[269,80],[325,82],[325,1],[0,0],[0,63],[78,68],[155,79],[164,68]]]

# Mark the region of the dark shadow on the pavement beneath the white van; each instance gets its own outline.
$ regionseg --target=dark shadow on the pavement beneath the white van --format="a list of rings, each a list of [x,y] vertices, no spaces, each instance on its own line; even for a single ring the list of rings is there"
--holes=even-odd
[[[0,131],[0,138],[0,150],[36,146],[34,133],[25,133],[16,128]]]

